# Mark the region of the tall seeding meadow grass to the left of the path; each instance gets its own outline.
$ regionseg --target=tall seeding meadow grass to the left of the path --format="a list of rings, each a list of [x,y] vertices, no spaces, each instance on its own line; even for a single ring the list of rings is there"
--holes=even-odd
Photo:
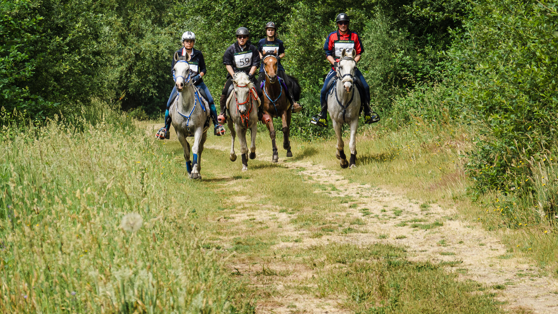
[[[253,311],[199,244],[191,209],[203,200],[189,195],[208,191],[161,184],[171,156],[131,118],[107,106],[82,113],[4,128],[0,312]],[[134,233],[119,228],[132,212],[143,220]]]

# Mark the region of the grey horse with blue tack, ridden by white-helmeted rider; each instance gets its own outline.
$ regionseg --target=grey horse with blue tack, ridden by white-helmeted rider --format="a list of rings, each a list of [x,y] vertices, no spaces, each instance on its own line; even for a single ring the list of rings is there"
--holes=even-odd
[[[204,150],[209,127],[209,107],[190,80],[190,65],[184,56],[175,53],[174,60],[178,96],[169,109],[169,115],[184,150],[188,175],[190,179],[201,179],[201,153]],[[194,136],[193,161],[190,161],[190,143],[186,140],[188,136]]]

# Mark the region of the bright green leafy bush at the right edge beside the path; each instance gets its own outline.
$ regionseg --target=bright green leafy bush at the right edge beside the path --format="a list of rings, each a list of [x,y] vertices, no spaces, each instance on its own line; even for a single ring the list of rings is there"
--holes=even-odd
[[[531,175],[527,160],[555,145],[558,12],[552,1],[503,0],[475,13],[450,53],[465,69],[463,112],[487,127],[468,168],[479,191],[511,192]]]

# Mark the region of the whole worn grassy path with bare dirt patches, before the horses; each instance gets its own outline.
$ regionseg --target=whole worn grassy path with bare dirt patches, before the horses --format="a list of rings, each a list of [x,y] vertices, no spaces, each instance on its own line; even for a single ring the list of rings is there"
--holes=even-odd
[[[415,284],[412,293],[398,296],[408,306],[403,312],[420,312],[422,306],[448,311],[437,299],[445,300],[448,292],[454,293],[451,305],[476,307],[479,312],[493,310],[497,303],[457,296],[466,292],[496,297],[514,312],[558,311],[556,280],[512,254],[496,234],[461,220],[455,208],[409,199],[405,191],[373,187],[358,178],[348,180],[345,171],[316,162],[323,157],[309,144],[294,150],[294,158],[269,163],[271,155],[262,154],[267,146],[263,136],[258,135],[258,159],[236,177],[230,170],[239,163],[228,161],[228,137],[209,137],[206,148],[211,152],[205,153],[204,163],[219,155],[224,164],[203,169],[204,178],[215,184],[223,199],[223,209],[211,218],[206,246],[234,251],[229,270],[249,280],[259,297],[258,312],[371,312],[371,303],[382,308],[391,300],[393,286]],[[169,149],[181,151],[176,141],[167,143]],[[219,175],[223,182],[217,182]],[[359,276],[361,264],[371,256],[376,256],[374,267],[386,267],[395,259],[412,269],[398,269],[408,272],[399,280]],[[423,274],[422,268],[430,273]],[[382,276],[377,268],[369,271]],[[382,284],[389,287],[387,292],[378,288]],[[432,297],[436,287],[443,288]],[[439,302],[440,308],[432,308],[432,302]]]

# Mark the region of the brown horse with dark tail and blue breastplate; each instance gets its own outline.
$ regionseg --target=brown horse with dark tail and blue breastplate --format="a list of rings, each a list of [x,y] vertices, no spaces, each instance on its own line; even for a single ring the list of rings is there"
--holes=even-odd
[[[288,140],[291,127],[291,102],[287,98],[287,91],[280,83],[277,77],[277,50],[269,51],[263,54],[262,58],[263,70],[266,73],[266,79],[263,85],[263,112],[273,118],[281,117],[283,122],[283,149],[287,150],[287,157],[292,157],[291,142]],[[299,81],[287,75],[285,82],[288,92],[291,93],[294,101],[299,101],[300,85]],[[264,116],[265,117],[265,116]],[[264,119],[265,120],[265,119]],[[273,119],[267,120],[267,130],[270,131],[271,144],[273,146],[273,157],[271,161],[277,163],[279,156],[277,153],[277,145],[275,144],[275,128],[273,127]]]

